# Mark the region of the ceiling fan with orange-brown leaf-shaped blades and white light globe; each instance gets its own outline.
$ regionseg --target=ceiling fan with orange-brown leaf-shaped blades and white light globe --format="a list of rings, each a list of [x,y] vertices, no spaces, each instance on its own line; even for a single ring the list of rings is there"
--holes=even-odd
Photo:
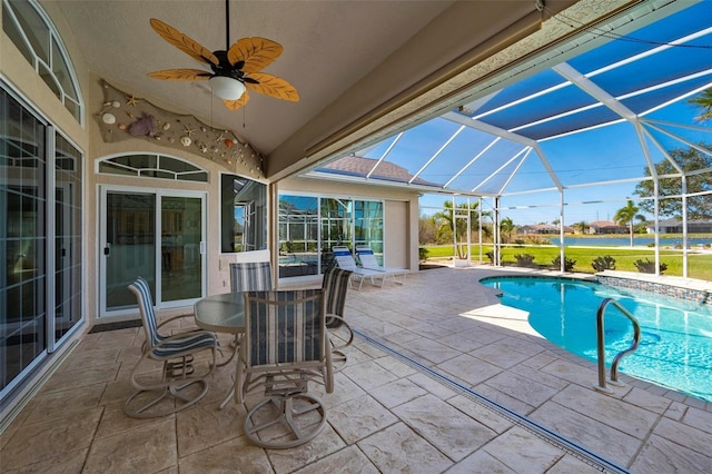
[[[230,46],[229,0],[225,1],[226,47],[210,51],[177,29],[151,18],[151,28],[162,39],[200,62],[210,66],[202,69],[166,69],[150,72],[148,77],[166,80],[209,80],[212,91],[230,110],[237,110],[249,100],[248,91],[264,93],[276,99],[297,102],[299,93],[286,80],[260,72],[281,55],[284,48],[267,38],[241,38]]]

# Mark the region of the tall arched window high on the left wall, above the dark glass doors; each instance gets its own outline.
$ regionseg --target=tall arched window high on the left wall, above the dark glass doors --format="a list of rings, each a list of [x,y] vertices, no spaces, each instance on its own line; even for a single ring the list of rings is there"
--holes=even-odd
[[[83,125],[77,75],[59,33],[37,0],[2,0],[2,31],[67,110]]]

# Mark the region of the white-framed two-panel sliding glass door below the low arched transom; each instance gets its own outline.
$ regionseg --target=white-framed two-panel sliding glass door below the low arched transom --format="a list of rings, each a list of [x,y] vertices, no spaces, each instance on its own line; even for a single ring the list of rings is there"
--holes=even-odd
[[[204,294],[205,197],[148,189],[101,192],[101,316],[136,307],[127,286],[146,278],[157,307]]]

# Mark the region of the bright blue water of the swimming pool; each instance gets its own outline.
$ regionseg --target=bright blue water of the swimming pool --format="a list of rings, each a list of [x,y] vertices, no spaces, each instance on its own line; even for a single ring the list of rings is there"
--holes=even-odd
[[[604,298],[616,299],[641,326],[637,350],[624,357],[619,369],[712,402],[711,305],[564,278],[494,277],[481,283],[502,290],[502,304],[528,312],[530,325],[542,336],[594,362],[596,310]],[[610,366],[615,354],[631,345],[633,327],[614,306],[605,315]]]

